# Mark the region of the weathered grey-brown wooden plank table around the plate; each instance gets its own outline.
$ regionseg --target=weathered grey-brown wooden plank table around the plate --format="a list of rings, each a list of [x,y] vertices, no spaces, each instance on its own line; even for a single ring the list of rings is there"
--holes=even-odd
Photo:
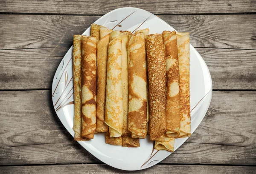
[[[103,164],[55,114],[52,79],[103,14],[133,6],[189,31],[212,75],[212,102],[186,143],[143,171]],[[256,173],[255,0],[0,0],[0,173]]]

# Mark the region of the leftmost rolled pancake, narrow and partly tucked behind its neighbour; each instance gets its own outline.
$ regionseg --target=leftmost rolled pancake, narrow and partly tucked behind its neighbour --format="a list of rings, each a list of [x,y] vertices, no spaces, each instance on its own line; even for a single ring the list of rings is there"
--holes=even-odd
[[[81,69],[82,69],[82,48],[81,35],[74,35],[73,40],[73,82],[74,82],[74,125],[76,141],[86,141],[81,137]]]

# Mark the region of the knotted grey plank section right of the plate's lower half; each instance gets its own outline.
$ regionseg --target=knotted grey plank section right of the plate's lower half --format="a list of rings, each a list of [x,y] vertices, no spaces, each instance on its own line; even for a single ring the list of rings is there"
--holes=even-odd
[[[186,142],[256,148],[256,92],[215,91],[212,95],[207,115]]]

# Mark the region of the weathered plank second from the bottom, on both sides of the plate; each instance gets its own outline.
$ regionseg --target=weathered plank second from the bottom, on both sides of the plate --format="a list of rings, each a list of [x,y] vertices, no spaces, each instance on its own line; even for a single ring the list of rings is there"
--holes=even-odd
[[[0,148],[0,165],[102,163],[73,140]],[[160,163],[256,165],[256,148],[184,143]]]

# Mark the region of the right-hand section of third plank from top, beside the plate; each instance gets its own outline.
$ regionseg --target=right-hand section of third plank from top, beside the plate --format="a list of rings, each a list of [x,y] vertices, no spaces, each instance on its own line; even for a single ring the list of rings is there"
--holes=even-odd
[[[256,50],[196,49],[209,68],[213,89],[256,89]]]

